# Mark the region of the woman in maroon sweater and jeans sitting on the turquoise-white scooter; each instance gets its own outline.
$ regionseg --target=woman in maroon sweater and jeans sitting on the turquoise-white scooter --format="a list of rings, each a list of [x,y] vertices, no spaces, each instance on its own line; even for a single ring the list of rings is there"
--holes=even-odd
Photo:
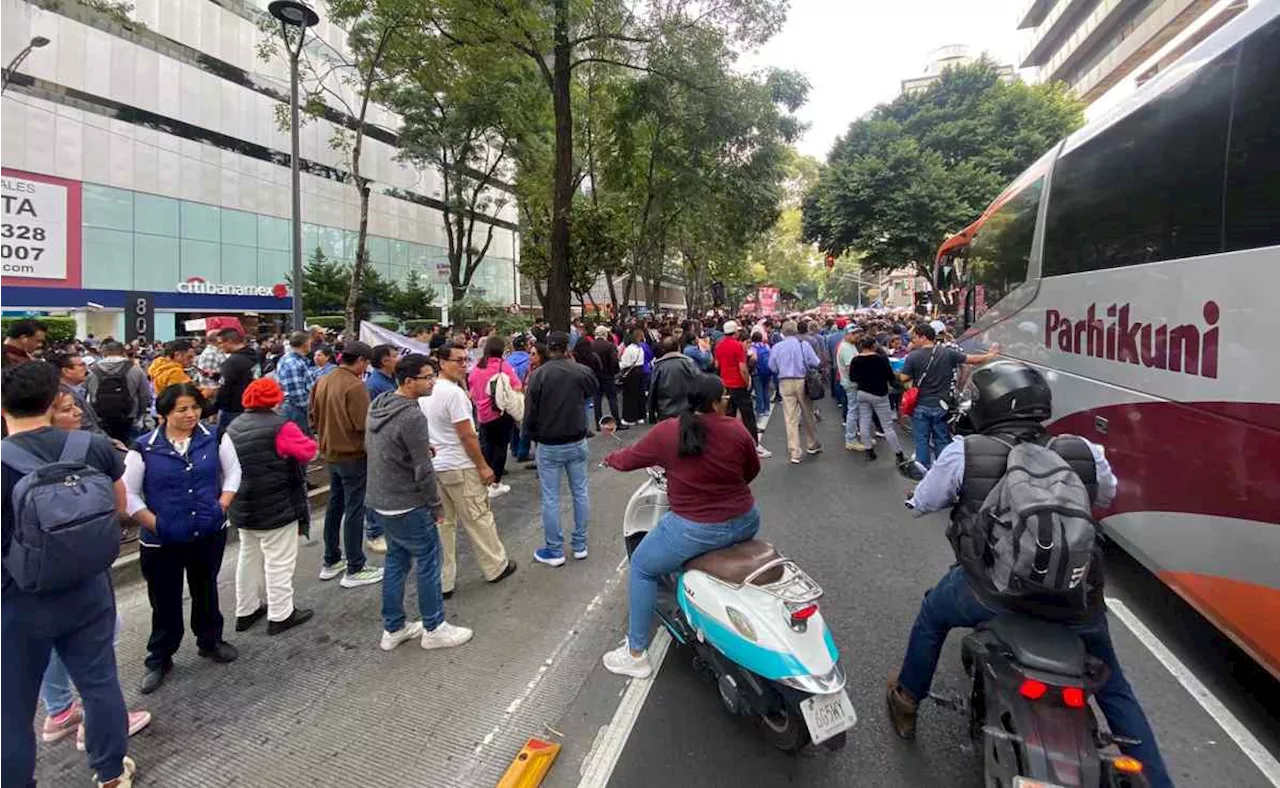
[[[748,486],[760,472],[755,441],[741,420],[724,416],[728,394],[714,375],[698,376],[689,409],[653,427],[634,446],[604,458],[618,471],[660,466],[667,472],[671,510],[631,555],[627,642],[604,655],[620,675],[648,678],[658,578],[685,562],[755,536],[760,510]]]

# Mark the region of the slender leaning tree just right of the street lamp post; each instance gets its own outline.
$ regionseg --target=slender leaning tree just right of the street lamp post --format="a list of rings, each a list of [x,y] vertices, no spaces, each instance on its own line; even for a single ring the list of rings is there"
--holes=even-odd
[[[276,26],[268,19],[264,24],[273,36],[259,45],[259,58],[271,60],[284,51],[298,51],[300,106],[311,118],[334,122],[329,146],[340,151],[346,162],[346,180],[356,189],[360,200],[360,226],[356,235],[356,260],[343,304],[346,331],[356,335],[360,320],[361,287],[369,262],[369,197],[371,180],[362,174],[365,130],[374,93],[396,79],[387,69],[396,47],[411,29],[411,19],[401,13],[390,13],[392,4],[379,0],[328,0],[329,20],[347,31],[347,50],[324,47],[324,61],[312,59],[311,51],[298,41],[305,35],[300,28]],[[332,106],[330,106],[332,105]],[[289,128],[287,105],[276,107],[276,123]],[[344,113],[339,115],[338,113]]]

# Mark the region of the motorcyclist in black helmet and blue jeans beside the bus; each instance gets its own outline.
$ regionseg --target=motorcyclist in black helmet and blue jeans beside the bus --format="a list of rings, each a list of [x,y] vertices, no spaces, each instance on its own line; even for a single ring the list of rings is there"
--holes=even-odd
[[[965,390],[969,418],[978,435],[950,443],[908,500],[916,513],[951,507],[948,536],[964,532],[968,518],[978,517],[987,494],[1005,473],[1011,445],[1048,440],[1043,422],[1052,416],[1052,398],[1043,376],[1015,361],[997,361],[974,371]],[[991,440],[992,437],[997,440]],[[1117,480],[1102,446],[1083,437],[1061,436],[1051,446],[1080,476],[1097,507],[1115,498]],[[954,544],[957,544],[952,540]],[[928,697],[942,643],[955,627],[975,627],[1002,611],[1015,610],[1065,623],[1084,641],[1085,650],[1107,664],[1111,675],[1098,690],[1098,706],[1115,736],[1140,741],[1121,750],[1143,764],[1153,788],[1172,782],[1156,746],[1156,736],[1138,698],[1116,660],[1107,629],[1102,595],[1102,556],[1096,553],[1084,583],[1084,594],[1073,599],[1029,596],[1011,601],[1001,596],[984,573],[974,571],[973,558],[963,560],[928,591],[911,627],[906,656],[896,679],[888,683],[888,715],[902,738],[915,737],[916,709]],[[980,559],[979,559],[980,560]],[[969,563],[966,571],[965,563]]]

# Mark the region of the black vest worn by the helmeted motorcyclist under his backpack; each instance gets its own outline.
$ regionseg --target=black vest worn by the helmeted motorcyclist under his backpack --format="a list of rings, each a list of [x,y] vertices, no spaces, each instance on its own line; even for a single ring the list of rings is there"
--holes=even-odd
[[[998,439],[998,440],[997,440]],[[1005,475],[1009,462],[1009,444],[1033,440],[1044,443],[1066,461],[1075,471],[1084,487],[1089,491],[1089,500],[1097,499],[1098,468],[1093,461],[1093,452],[1089,445],[1074,435],[1060,435],[1050,440],[1043,427],[1038,423],[1029,425],[1001,425],[986,435],[970,435],[964,439],[964,480],[960,484],[960,495],[951,509],[951,526],[947,528],[947,539],[955,550],[956,560],[965,571],[965,577],[974,594],[984,604],[992,608],[1001,608],[1025,613],[1037,618],[1051,620],[1076,622],[1087,620],[1102,611],[1103,574],[1102,551],[1094,550],[1093,562],[1089,565],[1089,576],[1083,585],[1084,592],[1079,597],[1059,596],[1020,596],[1010,597],[996,591],[987,576],[987,567],[991,556],[987,545],[975,544],[969,537],[977,528],[975,521],[987,495],[996,487]],[[1004,443],[1002,443],[1004,441]]]

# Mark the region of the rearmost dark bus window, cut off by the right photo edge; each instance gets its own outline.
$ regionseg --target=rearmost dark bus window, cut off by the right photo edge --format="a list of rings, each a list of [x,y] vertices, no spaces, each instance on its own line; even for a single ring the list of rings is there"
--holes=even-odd
[[[1280,19],[1244,42],[1226,175],[1226,249],[1280,244]]]

